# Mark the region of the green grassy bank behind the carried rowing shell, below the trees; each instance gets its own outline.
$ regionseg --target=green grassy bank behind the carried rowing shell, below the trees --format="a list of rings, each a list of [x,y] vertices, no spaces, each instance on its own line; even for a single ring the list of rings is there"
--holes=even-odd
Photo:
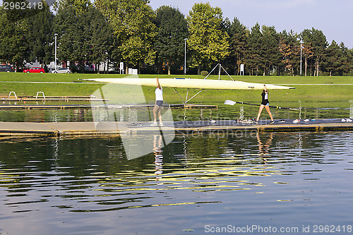
[[[157,75],[140,75],[140,78],[155,78]],[[0,73],[0,95],[7,96],[14,91],[16,95],[36,95],[38,91],[45,95],[90,95],[104,84],[77,83],[78,79],[89,78],[122,78],[125,75],[105,74],[35,74],[35,73]],[[159,78],[203,78],[203,76],[166,76]],[[210,76],[210,79],[217,79]],[[353,77],[289,77],[289,76],[233,76],[234,80],[253,83],[289,84],[295,90],[273,90],[270,92],[271,102],[330,102],[353,100]],[[229,80],[228,76],[222,79]],[[28,82],[28,83],[23,83]],[[42,83],[35,83],[42,82]],[[43,83],[44,82],[44,83]],[[51,83],[45,83],[51,82]],[[56,83],[53,83],[56,82]],[[294,85],[293,85],[294,84]],[[311,85],[318,84],[318,85]],[[154,99],[154,89],[144,87],[146,99]],[[184,98],[186,89],[179,89]],[[189,97],[197,90],[190,90]],[[258,90],[203,90],[193,102],[222,102],[226,99],[244,102],[261,100]],[[164,99],[169,103],[179,102],[179,96],[172,88],[164,88]],[[275,105],[275,104],[274,104]]]

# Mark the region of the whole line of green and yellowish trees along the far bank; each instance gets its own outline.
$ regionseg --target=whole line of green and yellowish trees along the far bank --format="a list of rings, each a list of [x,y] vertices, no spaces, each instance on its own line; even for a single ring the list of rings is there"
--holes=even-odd
[[[26,0],[4,0],[6,2]],[[118,71],[121,61],[139,73],[210,71],[220,63],[234,75],[353,76],[353,49],[321,30],[277,32],[274,26],[246,28],[222,9],[195,4],[188,16],[171,6],[153,11],[149,0],[59,0],[52,8],[0,7],[0,62],[22,68],[25,62],[69,61],[72,70],[104,64]],[[186,50],[185,50],[186,47]]]

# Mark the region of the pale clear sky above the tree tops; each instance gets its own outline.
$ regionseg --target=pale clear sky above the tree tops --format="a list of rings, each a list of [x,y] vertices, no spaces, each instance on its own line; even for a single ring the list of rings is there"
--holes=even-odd
[[[150,0],[150,6],[153,10],[172,6],[189,15],[194,4],[207,2],[220,7],[224,18],[238,18],[249,29],[256,23],[275,26],[277,32],[316,28],[323,31],[329,44],[335,40],[353,48],[352,0]]]

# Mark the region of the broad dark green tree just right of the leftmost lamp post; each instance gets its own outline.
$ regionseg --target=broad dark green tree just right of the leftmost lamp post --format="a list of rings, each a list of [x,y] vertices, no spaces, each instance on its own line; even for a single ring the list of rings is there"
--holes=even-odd
[[[107,59],[109,25],[102,13],[93,6],[77,13],[74,7],[59,8],[56,14],[56,32],[59,35],[58,58],[76,62],[81,72],[86,65],[100,64]]]

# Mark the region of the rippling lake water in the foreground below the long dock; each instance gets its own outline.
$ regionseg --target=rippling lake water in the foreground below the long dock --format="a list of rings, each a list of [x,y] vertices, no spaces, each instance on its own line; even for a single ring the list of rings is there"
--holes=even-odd
[[[352,131],[156,138],[1,140],[0,234],[352,234]]]

